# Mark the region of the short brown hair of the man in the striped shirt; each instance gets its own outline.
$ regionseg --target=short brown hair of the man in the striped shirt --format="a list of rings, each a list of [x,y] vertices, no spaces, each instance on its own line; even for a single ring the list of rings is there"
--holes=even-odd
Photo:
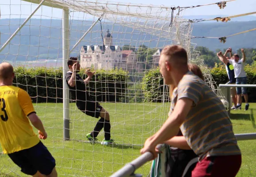
[[[166,55],[177,63],[187,64],[187,53],[182,46],[166,46],[163,48],[161,55]]]

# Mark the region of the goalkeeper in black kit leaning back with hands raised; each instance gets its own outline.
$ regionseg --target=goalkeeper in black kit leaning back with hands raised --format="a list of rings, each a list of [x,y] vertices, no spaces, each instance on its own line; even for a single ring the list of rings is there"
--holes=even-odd
[[[86,86],[93,74],[89,69],[86,70],[87,78],[83,80],[78,72],[80,71],[80,64],[78,62],[78,58],[70,57],[67,62],[69,66],[69,72],[66,73],[66,83],[70,89],[72,95],[76,98],[76,105],[81,112],[84,112],[86,115],[90,115],[95,118],[101,117],[97,122],[94,130],[86,135],[86,138],[90,142],[95,142],[98,139],[96,138],[99,132],[104,127],[105,139],[101,142],[102,145],[112,144],[113,140],[110,139],[110,121],[109,121],[109,112],[107,112],[101,105],[96,102],[90,100],[90,96],[88,92],[86,92]]]

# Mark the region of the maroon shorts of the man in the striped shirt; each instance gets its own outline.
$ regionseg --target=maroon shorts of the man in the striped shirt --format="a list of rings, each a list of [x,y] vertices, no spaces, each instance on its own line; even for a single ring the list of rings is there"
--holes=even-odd
[[[192,177],[235,177],[241,163],[241,155],[207,157],[197,163]]]

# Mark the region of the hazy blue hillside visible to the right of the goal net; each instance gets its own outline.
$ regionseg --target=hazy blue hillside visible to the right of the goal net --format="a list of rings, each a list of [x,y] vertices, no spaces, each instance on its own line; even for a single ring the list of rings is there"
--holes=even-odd
[[[194,23],[192,35],[201,37],[224,37],[253,28],[256,28],[256,21]],[[239,48],[256,48],[256,31],[229,37],[225,44],[219,42],[217,38],[194,38],[191,42],[196,43],[197,46],[205,46],[210,50],[229,47],[235,50]]]

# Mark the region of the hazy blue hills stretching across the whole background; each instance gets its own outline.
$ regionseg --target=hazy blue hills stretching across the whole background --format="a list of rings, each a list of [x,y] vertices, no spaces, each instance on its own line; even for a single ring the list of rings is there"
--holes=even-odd
[[[196,16],[190,17],[195,18]],[[256,18],[255,16],[248,17],[251,19]],[[24,19],[0,19],[0,46],[6,42],[10,36],[10,33],[12,34],[14,31],[16,31],[19,24],[21,24],[23,20]],[[9,26],[9,24],[11,24],[11,26]],[[20,31],[19,34],[21,35],[17,35],[15,38],[13,38],[11,42],[12,45],[9,46],[10,50],[5,49],[3,52],[1,52],[0,58],[5,58],[11,61],[34,61],[36,56],[39,56],[39,59],[62,58],[62,21],[57,19],[31,19],[29,24],[29,26],[24,26]],[[74,46],[77,40],[85,33],[85,31],[87,31],[91,24],[92,22],[81,21],[71,23],[71,47]],[[170,41],[166,42],[165,39],[159,40],[155,36],[145,33],[138,33],[138,31],[132,31],[131,28],[120,27],[116,24],[113,28],[112,24],[108,24],[108,26],[109,29],[113,29],[112,36],[113,38],[116,38],[113,42],[116,45],[123,46],[131,42],[132,45],[139,46],[144,44],[154,48],[156,46],[161,47],[170,43]],[[245,19],[241,22],[229,21],[227,23],[194,23],[192,35],[224,37],[255,27],[256,21],[245,21]],[[100,29],[100,23],[98,23],[93,27],[92,31],[99,31]],[[104,24],[104,32],[106,29],[107,26]],[[123,31],[123,33],[120,33],[121,31]],[[140,41],[140,43],[137,41]],[[233,50],[237,50],[241,47],[256,48],[256,31],[227,38],[227,42],[225,44],[220,43],[216,38],[194,38],[191,41],[196,43],[197,46],[205,46],[209,48],[209,50],[223,49],[228,47],[232,47]],[[81,45],[102,45],[101,33],[89,33],[86,35],[84,42],[82,42],[80,46]],[[17,54],[19,55],[17,56]],[[29,57],[27,57],[27,55]]]

